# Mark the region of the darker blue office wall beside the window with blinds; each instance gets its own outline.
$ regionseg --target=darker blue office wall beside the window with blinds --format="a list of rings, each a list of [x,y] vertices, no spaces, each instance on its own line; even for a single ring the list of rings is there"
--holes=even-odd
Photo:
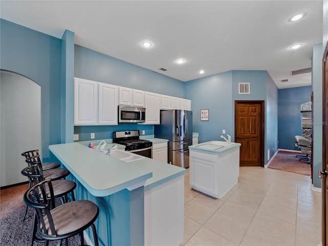
[[[299,150],[295,136],[301,134],[301,104],[311,101],[311,86],[279,90],[278,148]]]

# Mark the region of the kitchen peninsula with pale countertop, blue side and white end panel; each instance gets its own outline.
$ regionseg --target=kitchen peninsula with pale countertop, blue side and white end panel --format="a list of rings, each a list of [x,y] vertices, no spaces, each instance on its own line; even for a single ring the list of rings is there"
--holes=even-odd
[[[49,149],[71,172],[68,178],[77,183],[76,199],[98,205],[99,245],[178,245],[183,241],[186,169],[146,157],[126,162],[77,142]],[[87,234],[92,235],[91,231]]]

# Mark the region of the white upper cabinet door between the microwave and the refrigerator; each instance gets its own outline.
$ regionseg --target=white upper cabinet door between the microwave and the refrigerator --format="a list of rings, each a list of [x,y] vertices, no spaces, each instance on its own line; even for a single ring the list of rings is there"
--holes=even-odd
[[[148,125],[159,125],[160,95],[145,92],[146,122]]]

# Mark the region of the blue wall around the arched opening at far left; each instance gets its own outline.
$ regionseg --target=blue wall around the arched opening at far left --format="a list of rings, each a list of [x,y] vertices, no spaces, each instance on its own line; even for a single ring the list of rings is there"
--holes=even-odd
[[[60,144],[61,40],[4,19],[0,25],[1,69],[22,74],[41,86],[41,143],[47,161],[48,146]]]

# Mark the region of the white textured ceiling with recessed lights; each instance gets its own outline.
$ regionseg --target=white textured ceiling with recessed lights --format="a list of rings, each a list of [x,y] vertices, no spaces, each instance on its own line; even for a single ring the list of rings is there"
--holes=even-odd
[[[311,67],[313,45],[322,43],[322,6],[322,0],[2,0],[0,16],[58,38],[70,30],[77,45],[182,81],[230,70],[267,70],[282,89],[311,85],[311,73],[290,72]],[[289,21],[303,12],[298,22]],[[141,47],[144,40],[153,43],[151,48]],[[302,47],[290,49],[297,43]],[[178,58],[186,62],[178,65]]]

